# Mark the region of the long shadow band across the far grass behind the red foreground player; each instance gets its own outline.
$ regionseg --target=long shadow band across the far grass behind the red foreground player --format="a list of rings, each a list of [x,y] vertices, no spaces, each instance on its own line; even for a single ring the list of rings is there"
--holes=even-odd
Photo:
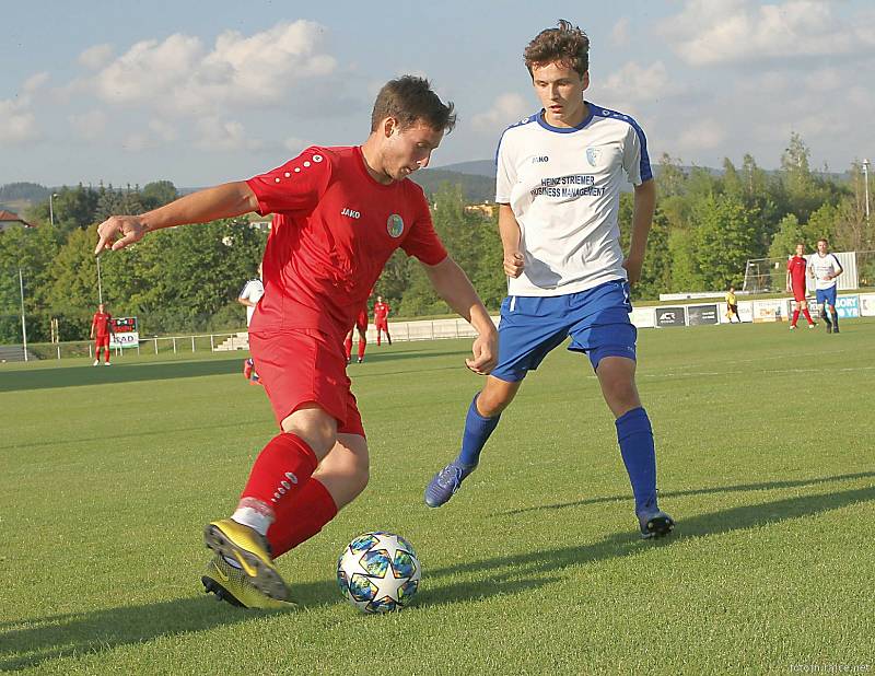
[[[374,351],[376,348],[374,349]],[[16,370],[8,373],[0,373],[0,393],[23,392],[27,389],[51,389],[56,387],[79,387],[82,385],[104,385],[107,383],[137,383],[145,381],[165,381],[184,377],[203,377],[211,375],[230,375],[242,373],[243,359],[246,353],[241,353],[236,359],[229,357],[217,357],[212,359],[200,359],[194,361],[161,361],[161,362],[136,362],[130,364],[114,363],[112,368],[104,369],[82,365],[81,368],[62,366],[58,369],[38,369],[33,371]],[[370,363],[388,364],[399,360],[428,359],[441,357],[459,357],[459,361],[465,353],[459,350],[433,352],[429,350],[394,350],[365,356],[363,364],[353,364],[349,368],[350,377],[363,375],[389,375],[387,373],[368,373]],[[460,363],[459,366],[464,368]],[[447,366],[450,368],[450,366]],[[443,369],[440,369],[443,370]],[[416,369],[409,372],[419,373],[429,369]],[[398,371],[397,373],[409,373]],[[241,383],[243,378],[241,377]]]

